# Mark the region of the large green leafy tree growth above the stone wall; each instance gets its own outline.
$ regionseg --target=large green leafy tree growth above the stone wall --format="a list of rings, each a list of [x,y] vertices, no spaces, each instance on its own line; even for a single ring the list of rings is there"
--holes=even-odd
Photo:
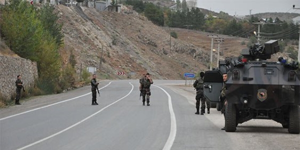
[[[55,92],[61,75],[58,47],[63,40],[53,9],[46,5],[37,9],[24,0],[10,0],[0,9],[1,35],[6,44],[19,56],[36,61],[39,80],[47,82],[42,90]]]

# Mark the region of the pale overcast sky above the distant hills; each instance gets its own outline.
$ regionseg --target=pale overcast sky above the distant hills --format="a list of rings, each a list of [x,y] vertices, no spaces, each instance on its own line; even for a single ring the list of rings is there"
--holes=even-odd
[[[300,8],[300,0],[197,0],[197,7],[224,11],[230,15],[248,15],[260,12],[295,12],[300,9],[290,9],[292,5]],[[299,14],[300,15],[300,14]]]

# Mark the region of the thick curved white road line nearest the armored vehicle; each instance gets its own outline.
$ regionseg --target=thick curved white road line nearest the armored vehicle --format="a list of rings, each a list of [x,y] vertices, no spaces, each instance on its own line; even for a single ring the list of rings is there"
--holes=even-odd
[[[168,106],[169,106],[169,111],[170,111],[170,117],[171,117],[171,129],[170,129],[170,134],[162,148],[162,150],[169,150],[171,149],[173,142],[175,140],[176,137],[176,132],[177,132],[177,125],[176,125],[176,117],[175,117],[175,113],[173,110],[173,106],[172,106],[172,100],[171,100],[171,96],[168,92],[166,92],[163,88],[157,86],[157,85],[153,85],[156,86],[158,88],[160,88],[161,90],[163,90],[168,98]]]

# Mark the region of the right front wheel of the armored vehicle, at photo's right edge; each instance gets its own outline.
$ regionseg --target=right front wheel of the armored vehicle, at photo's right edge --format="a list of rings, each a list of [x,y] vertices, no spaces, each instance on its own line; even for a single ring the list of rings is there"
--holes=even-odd
[[[288,132],[294,134],[300,132],[300,108],[298,105],[292,105],[289,108]]]

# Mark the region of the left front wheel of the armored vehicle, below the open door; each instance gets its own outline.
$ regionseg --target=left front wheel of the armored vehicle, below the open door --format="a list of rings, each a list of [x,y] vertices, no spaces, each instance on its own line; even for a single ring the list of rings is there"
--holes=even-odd
[[[234,104],[227,104],[225,107],[225,130],[234,132],[236,130],[236,108]]]

